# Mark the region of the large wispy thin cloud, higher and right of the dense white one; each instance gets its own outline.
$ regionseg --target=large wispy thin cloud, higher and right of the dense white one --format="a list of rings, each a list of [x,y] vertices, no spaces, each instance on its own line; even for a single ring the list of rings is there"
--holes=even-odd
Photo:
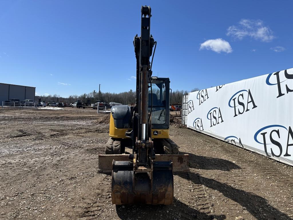
[[[230,26],[227,29],[227,36],[232,36],[238,40],[249,36],[263,42],[270,42],[275,38],[271,29],[263,25],[262,20],[252,19],[241,19],[237,26]]]

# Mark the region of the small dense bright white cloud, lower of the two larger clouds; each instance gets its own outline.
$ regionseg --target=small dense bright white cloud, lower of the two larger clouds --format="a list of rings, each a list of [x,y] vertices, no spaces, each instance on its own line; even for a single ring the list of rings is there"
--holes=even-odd
[[[222,38],[217,38],[213,40],[207,40],[200,44],[200,50],[207,49],[207,50],[213,50],[214,52],[221,53],[231,53],[232,48],[226,40],[223,40]]]

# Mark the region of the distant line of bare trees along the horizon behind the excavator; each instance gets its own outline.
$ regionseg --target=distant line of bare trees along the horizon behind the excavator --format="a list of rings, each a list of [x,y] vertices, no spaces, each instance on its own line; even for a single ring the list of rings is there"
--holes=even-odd
[[[198,88],[192,89],[190,92],[198,91]],[[183,94],[188,94],[187,90],[176,90],[172,92],[172,104],[179,105],[182,103],[182,96]],[[48,95],[48,96],[35,96],[35,100],[41,99],[45,103],[49,101],[60,102],[64,101],[67,104],[71,102],[75,102],[77,99],[81,100],[83,103],[96,103],[96,101],[100,100],[101,102],[117,102],[124,105],[133,105],[135,104],[136,92],[130,89],[128,92],[97,92],[93,90],[90,93],[84,93],[81,95],[70,95],[69,97],[61,97],[60,95]],[[171,95],[170,95],[170,104],[171,104]]]

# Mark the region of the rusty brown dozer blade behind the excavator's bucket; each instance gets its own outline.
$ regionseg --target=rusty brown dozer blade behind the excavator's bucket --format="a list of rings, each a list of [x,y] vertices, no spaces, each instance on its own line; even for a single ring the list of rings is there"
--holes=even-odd
[[[100,154],[98,158],[99,169],[102,173],[112,172],[113,160],[129,161],[128,154]],[[173,163],[173,172],[189,172],[188,154],[156,154],[154,161],[171,161]]]

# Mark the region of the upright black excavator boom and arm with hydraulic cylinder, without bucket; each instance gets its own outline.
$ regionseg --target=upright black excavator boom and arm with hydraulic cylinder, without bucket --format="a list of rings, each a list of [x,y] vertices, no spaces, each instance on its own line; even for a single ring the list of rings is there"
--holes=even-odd
[[[137,131],[133,133],[132,140],[133,157],[136,169],[138,167],[152,166],[152,159],[155,154],[153,152],[153,142],[151,141],[151,120],[148,120],[148,83],[151,82],[150,70],[150,56],[154,46],[154,38],[150,34],[151,26],[151,7],[142,6],[141,8],[141,35],[134,37],[134,51],[137,60],[137,105],[134,108],[134,117],[136,117],[135,124],[132,130]],[[146,169],[144,169],[146,170]]]

